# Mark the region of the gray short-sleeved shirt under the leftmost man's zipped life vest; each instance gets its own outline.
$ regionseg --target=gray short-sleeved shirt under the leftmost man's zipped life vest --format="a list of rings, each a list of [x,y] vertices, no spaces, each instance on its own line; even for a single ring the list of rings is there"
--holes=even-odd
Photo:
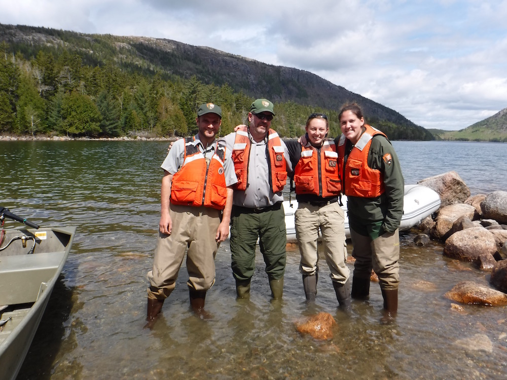
[[[210,160],[215,153],[216,140],[214,140],[212,144],[205,147],[199,139],[198,134],[194,137],[194,145],[199,146],[199,150],[204,154],[204,157],[207,160]],[[185,139],[181,138],[174,142],[171,149],[169,150],[169,153],[167,154],[167,157],[160,167],[170,174],[176,174],[179,168],[183,165],[184,159]],[[229,149],[229,147],[226,147],[225,151],[224,174],[226,186],[231,186],[238,181],[236,178],[236,171],[234,170],[234,164],[232,162],[232,148]]]

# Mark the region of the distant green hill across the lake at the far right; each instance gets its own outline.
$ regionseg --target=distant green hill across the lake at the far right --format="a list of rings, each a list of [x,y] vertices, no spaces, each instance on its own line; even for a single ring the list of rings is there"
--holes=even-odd
[[[442,140],[507,142],[507,108],[459,131],[428,131]]]

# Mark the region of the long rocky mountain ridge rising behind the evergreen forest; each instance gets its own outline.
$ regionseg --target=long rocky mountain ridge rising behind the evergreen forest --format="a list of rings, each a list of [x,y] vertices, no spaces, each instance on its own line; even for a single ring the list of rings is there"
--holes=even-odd
[[[65,54],[78,55],[88,70],[112,66],[121,69],[122,73],[141,75],[150,80],[159,75],[162,80],[171,83],[183,81],[187,84],[197,80],[207,86],[229,86],[236,94],[244,94],[253,99],[268,98],[275,103],[275,107],[280,104],[282,112],[296,107],[299,130],[301,124],[304,127],[306,122],[306,119],[302,120],[299,115],[303,112],[302,106],[305,111],[318,109],[337,112],[344,103],[357,102],[363,108],[367,122],[382,129],[391,139],[434,138],[431,133],[399,112],[352,93],[311,72],[269,65],[209,47],[150,37],[84,34],[3,24],[0,24],[0,44],[0,51],[5,52],[6,58],[12,54],[13,59],[21,57],[33,62],[38,61],[37,57],[41,51],[51,54],[55,60]],[[60,73],[55,74],[57,79],[62,76],[61,70],[65,70],[65,67],[68,70],[72,65],[61,65]],[[96,98],[90,96],[92,100]],[[186,112],[184,109],[182,111]],[[189,117],[187,119],[191,120]],[[289,116],[283,120],[286,119],[290,119]],[[295,133],[298,128],[287,128],[287,131]]]

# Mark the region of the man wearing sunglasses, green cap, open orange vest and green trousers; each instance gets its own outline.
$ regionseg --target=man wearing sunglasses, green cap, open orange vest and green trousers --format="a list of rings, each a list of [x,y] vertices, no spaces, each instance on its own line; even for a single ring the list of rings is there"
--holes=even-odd
[[[248,126],[225,136],[238,182],[234,186],[231,216],[232,271],[238,298],[250,295],[257,240],[266,262],[273,298],[283,294],[285,272],[285,213],[282,189],[292,172],[287,147],[271,129],[273,103],[257,99],[248,113]]]

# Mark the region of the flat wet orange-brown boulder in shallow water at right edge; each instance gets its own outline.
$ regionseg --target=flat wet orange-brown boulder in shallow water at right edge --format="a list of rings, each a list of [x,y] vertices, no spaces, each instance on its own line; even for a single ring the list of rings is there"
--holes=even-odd
[[[507,305],[507,294],[472,281],[458,283],[445,293],[444,296],[456,302],[466,303],[467,305]]]

